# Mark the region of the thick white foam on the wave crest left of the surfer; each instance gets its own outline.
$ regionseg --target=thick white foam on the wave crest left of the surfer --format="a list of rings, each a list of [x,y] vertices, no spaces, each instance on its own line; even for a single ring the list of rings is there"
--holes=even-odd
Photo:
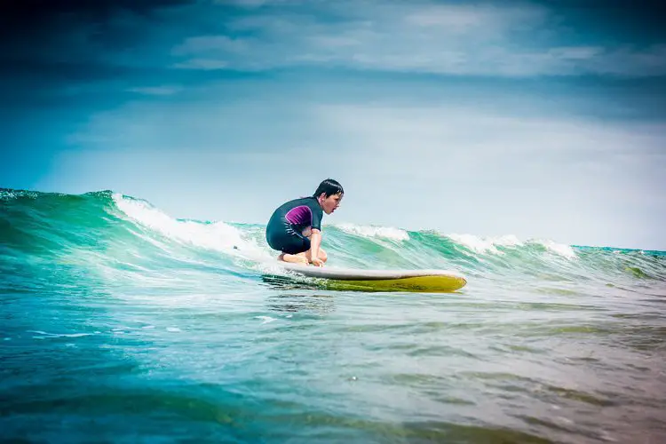
[[[128,218],[171,240],[226,253],[234,253],[234,247],[254,254],[262,251],[254,242],[243,239],[240,230],[224,222],[204,224],[191,220],[178,220],[147,202],[126,198],[122,194],[113,194],[113,199],[118,209]]]

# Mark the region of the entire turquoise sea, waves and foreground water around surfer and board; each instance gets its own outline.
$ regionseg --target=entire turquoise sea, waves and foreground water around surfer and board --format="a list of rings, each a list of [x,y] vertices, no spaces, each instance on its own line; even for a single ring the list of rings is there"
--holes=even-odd
[[[665,252],[323,234],[468,284],[327,290],[271,277],[264,226],[0,189],[0,440],[666,442]]]

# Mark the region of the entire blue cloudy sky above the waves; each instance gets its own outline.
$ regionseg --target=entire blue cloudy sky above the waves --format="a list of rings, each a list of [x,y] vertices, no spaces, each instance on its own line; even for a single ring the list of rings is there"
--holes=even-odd
[[[0,187],[266,224],[336,178],[324,224],[666,250],[663,17],[623,0],[4,2]]]

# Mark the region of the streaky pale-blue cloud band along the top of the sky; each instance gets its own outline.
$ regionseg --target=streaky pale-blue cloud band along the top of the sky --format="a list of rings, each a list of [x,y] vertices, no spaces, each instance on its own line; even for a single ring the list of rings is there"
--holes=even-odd
[[[235,15],[219,35],[174,48],[181,65],[343,67],[440,75],[666,75],[664,44],[579,38],[539,4],[266,2]],[[572,44],[574,43],[574,44]]]

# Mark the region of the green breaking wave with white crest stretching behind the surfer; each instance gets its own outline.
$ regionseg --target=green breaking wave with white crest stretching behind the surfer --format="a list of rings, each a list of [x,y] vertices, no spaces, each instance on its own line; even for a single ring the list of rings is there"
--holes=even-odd
[[[163,267],[183,264],[242,274],[255,267],[252,261],[276,256],[266,245],[264,226],[172,218],[150,202],[111,191],[72,195],[1,189],[0,201],[5,257],[56,256],[147,279]],[[444,267],[480,278],[547,274],[609,283],[666,280],[662,251],[579,247],[513,234],[484,237],[343,223],[324,226],[322,247],[334,266]]]

